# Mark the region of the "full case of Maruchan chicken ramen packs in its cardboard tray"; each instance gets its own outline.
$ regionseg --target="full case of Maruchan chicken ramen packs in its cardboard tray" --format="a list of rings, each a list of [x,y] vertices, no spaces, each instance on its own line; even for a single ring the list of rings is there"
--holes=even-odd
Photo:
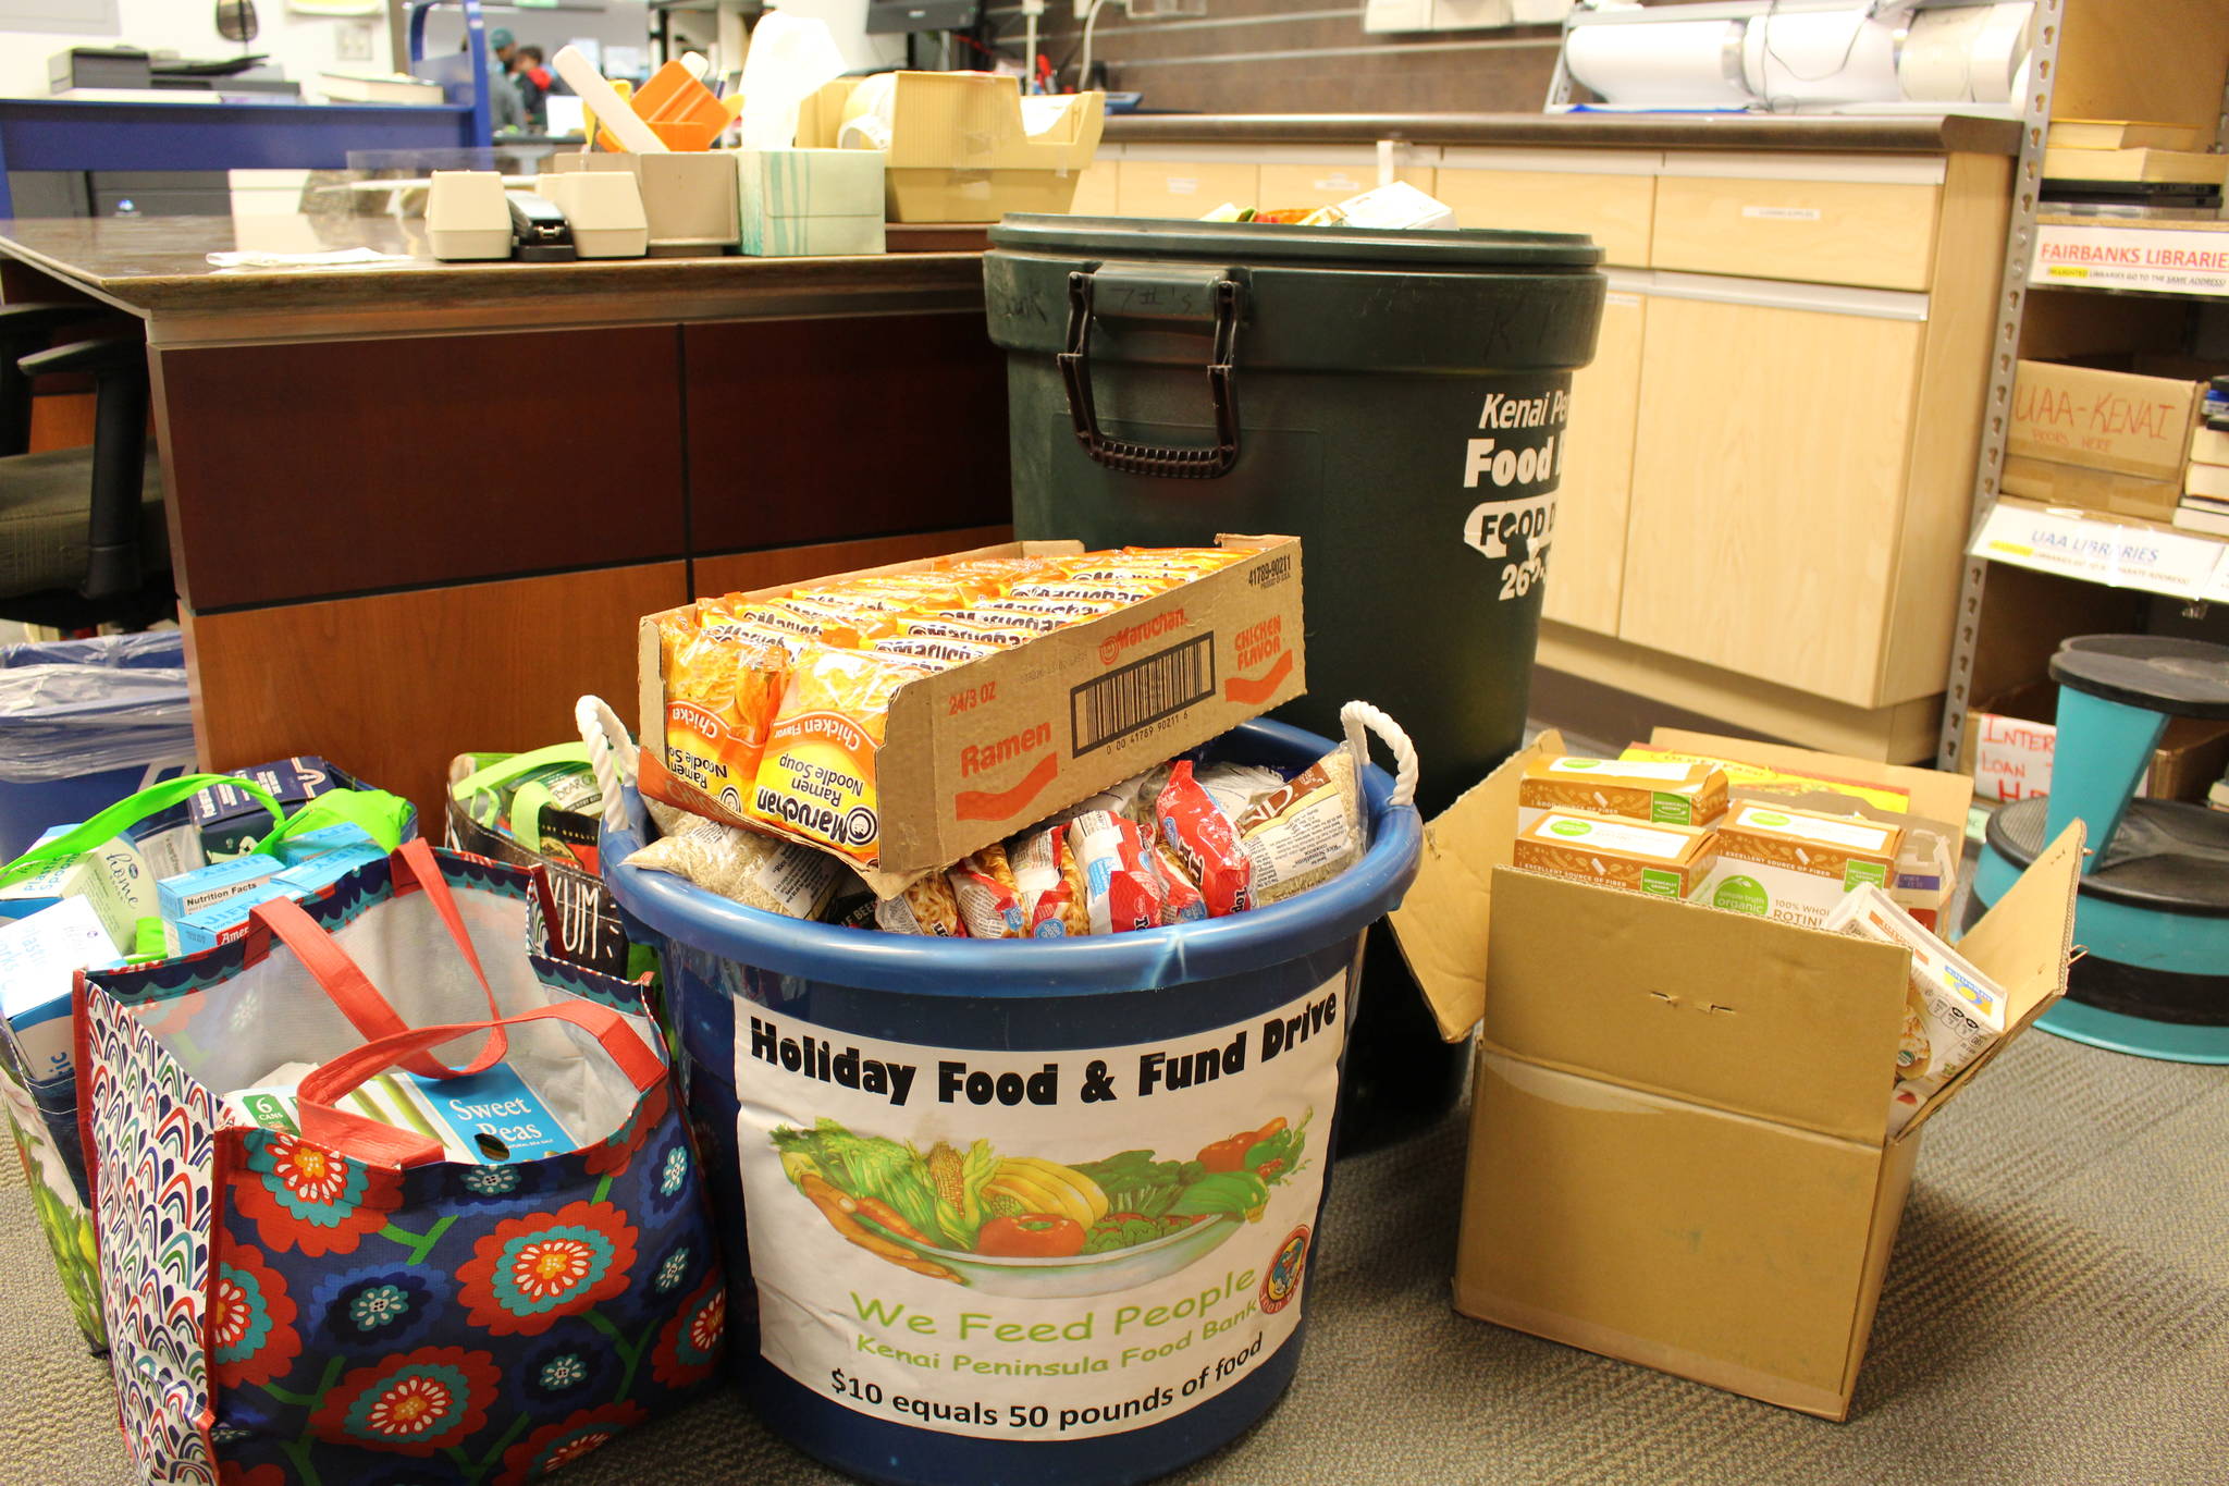
[[[642,619],[642,791],[878,898],[1306,691],[1295,537],[1010,541]]]

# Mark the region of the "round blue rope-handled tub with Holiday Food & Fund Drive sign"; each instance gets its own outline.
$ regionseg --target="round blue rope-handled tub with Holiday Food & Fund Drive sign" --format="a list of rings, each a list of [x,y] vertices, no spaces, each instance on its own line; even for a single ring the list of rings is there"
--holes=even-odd
[[[1210,757],[1331,744],[1250,722]],[[624,867],[666,938],[767,1426],[907,1486],[1112,1486],[1235,1439],[1300,1366],[1362,931],[1422,822],[1362,769],[1369,849],[1262,909],[1106,938],[798,922]],[[1395,802],[1395,800],[1402,802]]]

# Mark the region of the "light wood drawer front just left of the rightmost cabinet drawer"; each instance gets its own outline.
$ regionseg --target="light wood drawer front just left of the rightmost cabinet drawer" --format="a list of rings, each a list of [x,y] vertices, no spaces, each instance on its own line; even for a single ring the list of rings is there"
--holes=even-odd
[[[1449,147],[1433,194],[1462,227],[1585,232],[1605,263],[1647,267],[1661,165],[1654,151]]]

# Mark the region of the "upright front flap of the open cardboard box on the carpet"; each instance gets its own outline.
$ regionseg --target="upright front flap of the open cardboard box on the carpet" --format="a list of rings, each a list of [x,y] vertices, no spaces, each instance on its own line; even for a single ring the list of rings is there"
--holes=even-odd
[[[1482,1047],[1841,1141],[1886,1136],[1904,947],[1507,867],[1491,920]]]

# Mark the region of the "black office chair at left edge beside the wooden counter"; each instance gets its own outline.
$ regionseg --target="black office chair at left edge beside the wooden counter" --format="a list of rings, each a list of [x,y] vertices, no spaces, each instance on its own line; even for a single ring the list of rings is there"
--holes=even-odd
[[[147,628],[176,610],[147,348],[134,334],[42,350],[53,330],[100,314],[0,305],[0,619]],[[94,446],[31,454],[31,383],[58,372],[94,379]]]

